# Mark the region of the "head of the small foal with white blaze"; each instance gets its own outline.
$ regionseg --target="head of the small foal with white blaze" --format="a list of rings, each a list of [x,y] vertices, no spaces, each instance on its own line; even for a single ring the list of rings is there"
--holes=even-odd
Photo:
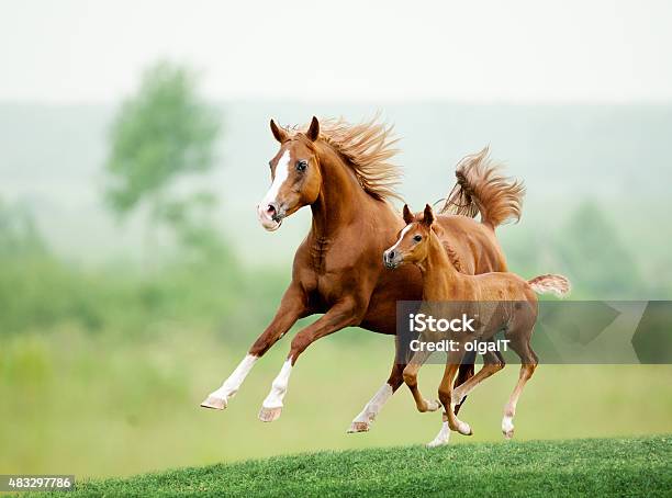
[[[425,205],[423,217],[415,217],[408,205],[404,205],[406,226],[399,233],[396,244],[383,252],[383,264],[394,269],[402,263],[422,263],[428,253],[428,240],[434,224],[434,212]]]

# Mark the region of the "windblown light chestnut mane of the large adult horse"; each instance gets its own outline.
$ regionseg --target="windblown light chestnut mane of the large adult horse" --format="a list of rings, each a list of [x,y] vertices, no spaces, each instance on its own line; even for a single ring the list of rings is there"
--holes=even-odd
[[[320,120],[320,138],[347,159],[363,191],[379,201],[403,201],[395,189],[402,178],[401,168],[390,162],[399,152],[394,148],[399,138],[393,138],[392,132],[393,126],[379,123],[378,115],[359,124],[343,117]]]

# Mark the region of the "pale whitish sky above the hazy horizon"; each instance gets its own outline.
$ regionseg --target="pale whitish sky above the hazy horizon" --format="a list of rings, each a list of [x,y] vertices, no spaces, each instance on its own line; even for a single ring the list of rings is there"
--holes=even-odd
[[[672,102],[672,1],[0,0],[0,102],[116,102],[160,57],[219,100]]]

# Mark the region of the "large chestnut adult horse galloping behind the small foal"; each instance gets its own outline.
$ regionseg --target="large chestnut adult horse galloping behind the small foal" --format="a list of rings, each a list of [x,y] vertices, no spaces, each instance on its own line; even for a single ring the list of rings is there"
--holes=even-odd
[[[277,230],[287,216],[310,205],[312,226],[296,250],[292,280],[275,318],[222,386],[201,404],[226,408],[255,362],[299,318],[324,314],[292,339],[259,412],[267,422],[280,416],[290,373],[311,343],[350,326],[395,335],[396,302],[422,296],[416,268],[389,272],[381,264],[383,250],[404,226],[389,203],[400,199],[394,185],[401,174],[388,162],[396,152],[390,128],[374,121],[349,125],[329,120],[321,125],[315,117],[304,132],[281,128],[272,120],[270,127],[280,149],[269,163],[272,183],[258,206],[259,222],[267,230]],[[480,213],[481,223],[461,215],[437,219],[452,241],[451,257],[469,274],[506,271],[494,228],[520,213],[523,186],[496,176],[486,154],[484,149],[458,167],[458,185],[444,210],[453,208],[452,201],[464,201],[458,210],[467,210],[470,216]],[[403,384],[404,366],[394,362],[389,380],[355,418],[349,432],[369,430],[383,404]],[[473,365],[463,365],[460,382],[471,375]],[[425,410],[438,408],[436,401],[424,401]]]

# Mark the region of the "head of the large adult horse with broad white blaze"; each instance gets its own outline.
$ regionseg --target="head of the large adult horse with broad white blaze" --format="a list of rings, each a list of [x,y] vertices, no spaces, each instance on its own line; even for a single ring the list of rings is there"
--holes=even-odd
[[[271,132],[280,143],[280,150],[270,160],[271,186],[257,206],[261,226],[277,230],[282,219],[317,200],[322,185],[317,150],[320,123],[313,117],[305,133],[290,134],[273,120]]]

